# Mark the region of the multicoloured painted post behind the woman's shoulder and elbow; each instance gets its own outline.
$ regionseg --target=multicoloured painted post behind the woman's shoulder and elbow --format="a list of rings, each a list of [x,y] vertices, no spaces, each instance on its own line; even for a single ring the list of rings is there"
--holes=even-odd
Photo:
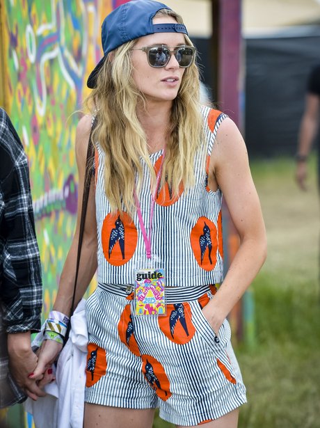
[[[213,58],[216,64],[215,98],[218,109],[227,113],[243,128],[241,99],[243,97],[243,58],[241,40],[241,0],[212,0],[214,23]],[[226,267],[239,247],[239,236],[224,205],[225,234],[227,245]],[[226,230],[227,229],[227,230]],[[248,290],[241,301],[230,312],[230,324],[237,340],[244,340],[248,346],[255,344],[254,299],[252,290]]]

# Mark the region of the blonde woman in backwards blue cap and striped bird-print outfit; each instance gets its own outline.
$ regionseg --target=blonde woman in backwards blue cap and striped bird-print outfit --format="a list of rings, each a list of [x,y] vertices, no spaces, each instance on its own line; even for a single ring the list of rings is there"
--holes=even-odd
[[[232,120],[200,107],[195,49],[163,3],[115,9],[102,46],[88,79],[95,186],[77,286],[79,301],[98,268],[86,304],[84,426],[152,427],[159,406],[178,427],[237,427],[246,391],[226,317],[266,254],[246,146]],[[85,116],[77,127],[79,200],[91,122]],[[241,238],[224,280],[222,192]],[[78,234],[54,304],[57,324],[70,313]],[[60,350],[45,341],[35,377]]]

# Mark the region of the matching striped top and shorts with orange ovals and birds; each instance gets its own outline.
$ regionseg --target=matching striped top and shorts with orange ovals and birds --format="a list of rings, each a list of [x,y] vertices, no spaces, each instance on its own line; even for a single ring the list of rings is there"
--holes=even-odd
[[[214,139],[225,115],[202,107],[203,151],[195,156],[195,186],[179,196],[159,189],[152,220],[154,262],[166,269],[166,315],[134,315],[136,268],[147,267],[138,221],[111,214],[104,192],[104,154],[95,156],[98,286],[86,303],[86,402],[154,409],[176,425],[200,425],[246,402],[239,365],[223,322],[218,338],[202,314],[223,280],[221,201],[207,186]],[[163,151],[150,154],[157,173]],[[143,161],[141,161],[143,162]],[[152,194],[147,167],[139,195],[149,228]],[[147,230],[147,233],[149,230]]]

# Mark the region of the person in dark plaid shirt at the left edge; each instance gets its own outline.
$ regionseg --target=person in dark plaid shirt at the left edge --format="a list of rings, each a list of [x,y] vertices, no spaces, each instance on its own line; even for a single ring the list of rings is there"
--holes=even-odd
[[[0,408],[23,402],[26,395],[45,395],[29,379],[38,361],[31,333],[40,330],[41,309],[28,161],[10,118],[0,108]]]

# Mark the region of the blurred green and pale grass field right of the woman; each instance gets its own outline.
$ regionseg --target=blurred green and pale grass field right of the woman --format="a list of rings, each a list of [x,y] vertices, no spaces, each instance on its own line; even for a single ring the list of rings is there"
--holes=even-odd
[[[320,426],[319,196],[315,158],[309,190],[294,182],[291,159],[256,160],[251,171],[262,203],[268,258],[251,290],[255,346],[235,349],[248,404],[239,428]],[[154,428],[173,425],[154,420]]]

